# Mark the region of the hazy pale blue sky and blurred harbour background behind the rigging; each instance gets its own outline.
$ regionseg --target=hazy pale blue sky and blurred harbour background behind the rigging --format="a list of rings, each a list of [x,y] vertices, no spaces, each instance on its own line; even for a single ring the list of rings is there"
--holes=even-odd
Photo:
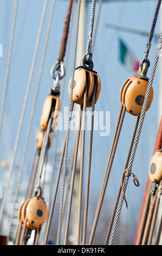
[[[81,1],[84,8],[85,19],[81,20],[83,24],[80,29],[82,40],[83,53],[86,52],[86,45],[88,40],[88,29],[90,20],[90,10],[92,2],[89,0]],[[94,70],[98,72],[101,79],[101,93],[98,102],[95,105],[95,111],[109,111],[109,127],[110,132],[108,136],[100,136],[99,130],[94,130],[93,137],[93,151],[92,151],[92,166],[90,173],[90,191],[89,191],[89,212],[88,212],[88,229],[87,229],[87,242],[89,241],[89,235],[92,229],[96,206],[101,191],[103,177],[107,166],[107,160],[109,156],[109,150],[113,140],[116,122],[118,119],[120,109],[120,90],[122,84],[128,77],[134,74],[134,70],[127,69],[124,63],[121,63],[120,59],[120,40],[125,44],[128,51],[132,52],[132,58],[137,62],[140,60],[142,54],[144,54],[147,42],[147,36],[150,31],[154,9],[157,1],[155,0],[126,0],[126,1],[113,1],[105,0],[101,3],[100,16],[98,22],[98,28],[95,36],[95,44],[93,50],[93,63]],[[12,27],[12,18],[14,14],[15,1],[0,0],[0,43],[3,46],[3,57],[0,58],[0,101],[2,101],[3,87],[5,81],[5,71],[7,68],[7,59],[10,43],[10,34]],[[12,153],[14,150],[15,139],[17,135],[18,125],[20,122],[22,106],[24,102],[25,92],[28,84],[29,73],[31,63],[33,60],[33,54],[38,34],[38,28],[40,26],[40,20],[43,9],[43,0],[21,0],[18,2],[17,19],[14,35],[14,44],[12,47],[11,65],[9,72],[9,82],[7,90],[7,100],[5,103],[3,126],[0,140],[0,185],[5,190],[7,184],[8,172],[11,163]],[[36,66],[34,70],[34,76],[30,88],[30,94],[28,99],[27,109],[25,111],[25,118],[23,122],[20,143],[18,144],[16,161],[14,164],[14,170],[12,173],[12,179],[10,184],[10,190],[8,194],[7,204],[5,206],[3,227],[1,233],[6,235],[8,230],[8,220],[10,218],[10,212],[12,209],[12,202],[14,199],[14,191],[16,189],[16,182],[18,177],[18,171],[20,170],[20,164],[22,160],[22,153],[25,144],[25,138],[27,136],[27,129],[30,120],[31,106],[33,105],[35,87],[38,79],[38,72],[40,69],[40,62],[43,53],[44,41],[46,38],[48,19],[50,15],[52,1],[49,0],[48,9],[43,26],[43,32],[41,36],[40,47],[38,48],[38,56],[36,60]],[[68,54],[68,65],[66,66],[66,83],[64,88],[62,107],[68,107],[69,95],[68,95],[68,83],[72,75],[73,64],[73,51],[74,51],[74,38],[75,38],[75,21],[76,21],[76,7],[77,2],[74,5],[74,18],[72,23],[72,35],[70,38],[70,48]],[[34,160],[36,145],[35,137],[40,130],[40,118],[42,113],[42,107],[44,100],[48,96],[49,89],[53,87],[53,78],[50,76],[50,69],[55,64],[59,51],[62,38],[64,20],[66,18],[68,8],[68,0],[56,0],[53,23],[51,26],[50,38],[48,42],[48,48],[46,53],[46,59],[43,66],[42,78],[40,89],[38,93],[38,99],[35,109],[33,126],[30,133],[30,140],[28,145],[27,155],[25,157],[25,165],[23,168],[23,175],[21,180],[20,192],[17,199],[17,209],[23,203],[25,190],[27,189],[27,181],[31,166]],[[95,9],[95,21],[98,14],[99,1],[96,1]],[[154,61],[155,52],[157,50],[159,35],[161,31],[160,16],[157,20],[155,27],[155,36],[152,41],[152,46],[148,59],[150,60],[150,68],[148,69],[147,76],[151,74],[151,68]],[[161,19],[162,20],[162,19]],[[79,43],[78,43],[79,44]],[[77,52],[79,51],[79,45]],[[82,50],[81,50],[82,51]],[[132,60],[133,61],[133,60]],[[80,56],[77,54],[77,65],[79,65]],[[133,245],[135,235],[138,227],[138,221],[141,211],[141,206],[144,198],[147,178],[148,178],[148,166],[153,155],[155,139],[158,132],[159,121],[161,118],[161,83],[160,83],[160,61],[158,63],[157,71],[155,73],[153,81],[154,99],[152,105],[145,115],[144,124],[142,127],[137,152],[133,162],[132,172],[137,175],[140,182],[139,187],[135,187],[133,180],[130,179],[126,198],[128,203],[128,209],[126,209],[125,203],[122,206],[120,215],[120,221],[118,229],[116,231],[114,244],[116,245]],[[76,66],[77,66],[76,65]],[[60,82],[60,90],[62,92],[62,81]],[[107,191],[105,199],[103,201],[102,210],[99,218],[98,227],[94,237],[94,244],[102,245],[105,242],[109,221],[112,215],[114,203],[120,186],[121,175],[124,171],[124,166],[131,143],[134,126],[137,118],[126,112],[124,124],[121,130],[121,136],[119,144],[116,149],[114,162],[112,166],[111,175],[109,177]],[[60,155],[62,151],[62,145],[64,140],[65,131],[59,132],[59,143],[57,148],[56,166],[54,173],[54,181],[57,175],[57,169],[59,167]],[[72,151],[74,147],[74,135],[75,132],[70,133],[69,150],[68,150],[68,166],[70,158],[72,157]],[[48,202],[49,182],[51,179],[52,162],[55,147],[56,133],[53,132],[53,144],[48,154],[47,164],[47,178],[46,186],[44,188],[44,199]],[[89,146],[89,131],[86,132],[85,143],[85,173],[83,183],[83,194],[86,191],[86,175],[87,175],[87,159],[88,159],[88,146]],[[5,161],[5,164],[4,162]],[[54,189],[54,188],[53,188]],[[50,229],[49,242],[56,242],[57,225],[59,217],[59,189],[58,197],[53,215],[53,222]],[[84,201],[84,197],[83,197]],[[2,199],[0,199],[2,203]],[[17,228],[17,209],[15,210],[14,220],[12,223],[11,241],[15,236]],[[72,217],[70,218],[70,230],[68,243],[73,244],[75,241],[74,234],[74,218],[75,208],[73,205]],[[64,231],[64,226],[62,233]],[[42,232],[43,234],[43,232]],[[43,235],[42,235],[43,237]],[[41,240],[40,240],[41,242]]]

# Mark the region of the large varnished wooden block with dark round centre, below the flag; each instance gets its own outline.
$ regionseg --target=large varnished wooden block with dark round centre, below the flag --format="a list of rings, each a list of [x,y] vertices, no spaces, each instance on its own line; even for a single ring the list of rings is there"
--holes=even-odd
[[[144,103],[145,94],[148,86],[148,81],[137,76],[129,77],[124,83],[120,92],[120,102],[126,106],[126,111],[132,115],[138,116],[141,113]],[[151,88],[148,97],[146,111],[150,108],[153,101],[153,88]]]

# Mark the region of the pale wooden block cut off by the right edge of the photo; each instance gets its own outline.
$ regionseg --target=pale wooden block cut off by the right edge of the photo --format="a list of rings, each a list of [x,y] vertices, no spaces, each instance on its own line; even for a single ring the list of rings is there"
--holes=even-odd
[[[156,151],[149,166],[149,178],[152,182],[159,182],[162,178],[162,152]]]

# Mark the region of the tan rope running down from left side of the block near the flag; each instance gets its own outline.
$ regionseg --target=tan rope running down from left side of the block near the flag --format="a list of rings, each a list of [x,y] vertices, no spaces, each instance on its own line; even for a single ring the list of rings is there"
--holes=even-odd
[[[123,105],[121,103],[119,117],[118,117],[118,120],[117,120],[115,132],[114,132],[114,137],[113,137],[113,142],[112,142],[112,146],[111,146],[111,151],[110,151],[109,157],[108,157],[105,177],[103,179],[103,184],[102,184],[102,188],[101,188],[99,202],[98,202],[98,206],[97,206],[96,213],[95,213],[95,218],[94,218],[94,222],[93,222],[92,231],[91,231],[91,234],[90,234],[89,245],[92,245],[92,242],[93,242],[93,239],[94,239],[96,225],[98,224],[99,215],[100,215],[100,211],[101,211],[101,207],[102,207],[102,203],[103,203],[103,198],[105,196],[107,182],[108,182],[109,174],[111,172],[113,158],[114,158],[116,147],[117,147],[117,144],[118,144],[122,123],[123,123],[124,117],[125,117],[125,112],[126,112],[126,107],[123,107]]]

